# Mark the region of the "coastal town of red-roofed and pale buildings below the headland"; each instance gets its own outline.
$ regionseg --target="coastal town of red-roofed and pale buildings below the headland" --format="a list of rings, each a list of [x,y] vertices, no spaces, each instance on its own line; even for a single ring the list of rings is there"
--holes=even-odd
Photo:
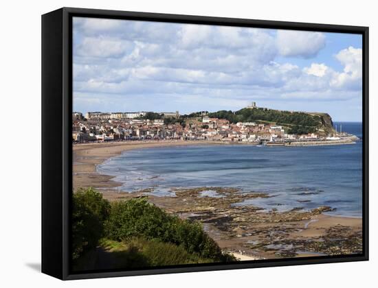
[[[258,109],[252,102],[248,109]],[[263,108],[266,109],[266,108]],[[332,129],[332,128],[331,128]],[[354,143],[355,136],[342,127],[305,134],[290,133],[284,125],[266,121],[231,123],[206,111],[190,115],[176,112],[82,112],[72,113],[73,143],[136,140],[190,140],[255,145],[309,145]]]

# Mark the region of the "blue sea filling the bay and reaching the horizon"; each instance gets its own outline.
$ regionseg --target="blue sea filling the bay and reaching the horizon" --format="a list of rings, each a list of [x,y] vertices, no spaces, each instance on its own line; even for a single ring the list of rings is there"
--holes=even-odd
[[[355,145],[256,147],[198,145],[135,149],[98,165],[98,171],[122,182],[120,191],[153,188],[237,187],[274,197],[245,200],[270,211],[319,206],[329,213],[362,217],[362,123],[335,122],[359,137]],[[211,190],[211,189],[210,189]],[[212,195],[212,191],[207,192]]]

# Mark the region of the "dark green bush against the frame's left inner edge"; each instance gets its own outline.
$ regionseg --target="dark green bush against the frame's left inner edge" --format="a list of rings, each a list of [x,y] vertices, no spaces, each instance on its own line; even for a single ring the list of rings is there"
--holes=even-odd
[[[93,189],[78,189],[72,195],[72,258],[95,248],[103,236],[110,204]]]

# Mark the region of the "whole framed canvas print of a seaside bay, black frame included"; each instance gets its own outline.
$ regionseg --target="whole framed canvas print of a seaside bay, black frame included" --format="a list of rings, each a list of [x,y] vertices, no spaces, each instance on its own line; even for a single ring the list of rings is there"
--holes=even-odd
[[[368,27],[42,16],[42,270],[368,260]]]

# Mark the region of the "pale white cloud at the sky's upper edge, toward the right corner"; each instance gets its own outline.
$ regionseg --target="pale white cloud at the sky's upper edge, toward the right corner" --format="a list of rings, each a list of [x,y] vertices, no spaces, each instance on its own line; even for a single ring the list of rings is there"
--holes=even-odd
[[[280,55],[312,58],[326,45],[326,37],[320,32],[293,30],[277,31],[277,47]]]

